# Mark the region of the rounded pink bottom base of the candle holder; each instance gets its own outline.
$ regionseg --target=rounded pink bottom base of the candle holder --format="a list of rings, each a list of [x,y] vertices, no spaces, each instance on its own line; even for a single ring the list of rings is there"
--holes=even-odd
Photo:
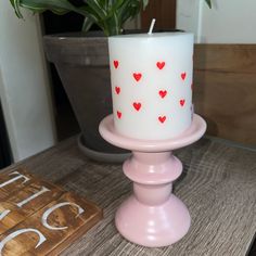
[[[174,194],[157,206],[126,200],[115,216],[116,228],[127,240],[148,247],[168,246],[183,238],[190,228],[190,214]]]

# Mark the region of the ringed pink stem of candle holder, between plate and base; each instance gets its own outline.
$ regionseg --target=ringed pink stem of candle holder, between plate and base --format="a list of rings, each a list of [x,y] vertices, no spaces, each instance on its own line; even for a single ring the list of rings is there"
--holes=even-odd
[[[125,175],[135,182],[135,196],[145,205],[165,203],[171,193],[172,181],[181,171],[182,165],[171,152],[135,152],[124,164]]]

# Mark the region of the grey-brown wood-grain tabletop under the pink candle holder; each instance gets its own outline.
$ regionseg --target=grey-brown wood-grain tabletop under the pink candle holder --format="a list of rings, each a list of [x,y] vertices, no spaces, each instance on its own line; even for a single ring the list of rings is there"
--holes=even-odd
[[[89,161],[76,138],[10,166],[87,196],[104,209],[104,218],[63,255],[245,255],[256,231],[256,152],[204,138],[175,152],[183,174],[175,193],[188,206],[192,225],[178,243],[145,248],[124,240],[114,226],[118,205],[131,193],[120,165]]]

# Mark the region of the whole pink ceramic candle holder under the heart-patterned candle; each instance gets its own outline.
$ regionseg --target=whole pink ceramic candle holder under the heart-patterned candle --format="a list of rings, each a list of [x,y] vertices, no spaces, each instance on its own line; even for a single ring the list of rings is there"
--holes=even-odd
[[[206,123],[194,114],[191,127],[181,136],[159,141],[130,139],[118,135],[113,115],[100,124],[101,136],[110,143],[132,151],[124,163],[125,175],[133,181],[133,194],[118,208],[117,230],[127,240],[149,247],[170,245],[190,228],[187,206],[171,193],[172,182],[181,175],[182,164],[171,150],[197,141]]]

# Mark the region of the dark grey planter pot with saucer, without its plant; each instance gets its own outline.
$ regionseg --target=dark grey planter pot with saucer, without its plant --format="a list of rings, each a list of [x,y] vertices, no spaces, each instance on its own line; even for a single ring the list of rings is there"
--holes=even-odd
[[[81,129],[79,148],[91,158],[123,162],[128,152],[105,142],[98,129],[112,113],[107,38],[100,33],[44,36],[53,62]]]

